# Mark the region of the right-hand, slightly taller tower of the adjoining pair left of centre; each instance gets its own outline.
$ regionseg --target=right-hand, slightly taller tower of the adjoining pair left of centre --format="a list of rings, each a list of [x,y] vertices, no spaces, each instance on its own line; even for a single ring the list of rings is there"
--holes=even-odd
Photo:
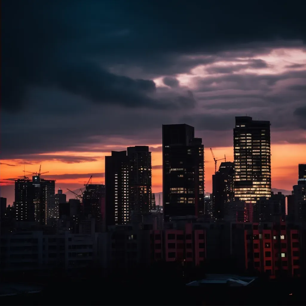
[[[147,146],[127,148],[129,159],[129,207],[133,214],[150,211],[152,193],[151,152]]]

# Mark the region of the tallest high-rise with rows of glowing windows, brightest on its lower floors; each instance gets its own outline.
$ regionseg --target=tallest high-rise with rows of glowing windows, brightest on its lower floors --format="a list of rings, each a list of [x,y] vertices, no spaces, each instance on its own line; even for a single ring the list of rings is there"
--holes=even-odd
[[[235,197],[253,205],[271,197],[270,121],[236,117],[234,163]]]

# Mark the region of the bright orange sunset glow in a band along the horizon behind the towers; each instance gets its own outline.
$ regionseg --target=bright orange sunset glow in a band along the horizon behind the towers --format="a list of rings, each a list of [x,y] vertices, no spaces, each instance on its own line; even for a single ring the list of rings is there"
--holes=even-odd
[[[153,145],[153,148],[158,148],[161,145]],[[121,149],[121,147],[120,147]],[[226,155],[227,161],[233,161],[233,147],[215,147],[212,148],[217,159],[223,158]],[[306,144],[272,144],[271,145],[271,176],[272,176],[272,188],[291,190],[292,186],[297,182],[297,164],[304,163],[306,152]],[[104,184],[104,156],[111,155],[110,152],[50,152],[46,155],[56,155],[59,158],[61,156],[86,156],[95,157],[96,161],[90,162],[78,162],[78,163],[65,163],[53,160],[44,160],[43,156],[40,162],[31,162],[31,164],[23,164],[23,161],[18,159],[2,160],[1,161],[1,185],[14,184],[12,179],[21,177],[25,167],[26,171],[36,172],[39,170],[40,164],[42,165],[42,172],[49,171],[48,178],[54,178],[56,180],[56,190],[61,187],[66,192],[66,188],[77,189],[82,188],[84,183],[87,182],[89,176],[93,174],[93,184]],[[27,161],[25,161],[27,162]],[[152,190],[153,192],[162,192],[162,152],[152,152]],[[217,164],[217,170],[220,162]],[[211,177],[214,174],[214,161],[210,152],[210,148],[205,148],[205,191],[212,191]],[[65,178],[63,176],[67,174],[67,177],[76,176],[73,178]],[[84,175],[82,175],[84,174]],[[85,176],[88,174],[87,176]],[[31,177],[30,173],[26,173],[26,176]],[[10,180],[8,180],[10,179]],[[12,191],[4,193],[2,191],[1,196],[8,198],[8,204],[13,202]],[[72,196],[68,196],[72,197]]]

